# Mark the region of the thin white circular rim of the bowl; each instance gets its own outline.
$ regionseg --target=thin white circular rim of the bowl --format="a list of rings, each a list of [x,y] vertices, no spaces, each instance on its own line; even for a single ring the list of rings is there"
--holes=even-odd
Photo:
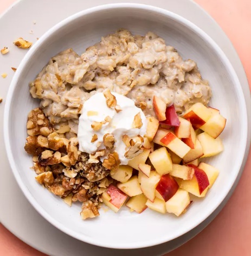
[[[110,243],[106,243],[106,242],[102,242],[102,241],[97,241],[94,238],[91,238],[89,236],[86,236],[84,234],[79,234],[78,232],[73,231],[72,229],[69,229],[67,227],[65,227],[61,222],[57,221],[55,218],[51,217],[46,210],[44,210],[41,205],[35,200],[35,198],[33,197],[33,195],[30,193],[29,189],[27,188],[27,186],[24,185],[24,183],[22,182],[22,177],[20,176],[20,174],[18,173],[18,170],[15,166],[15,160],[14,160],[14,155],[12,154],[11,151],[11,145],[10,145],[10,108],[11,108],[11,99],[12,96],[14,95],[15,92],[15,88],[17,86],[17,82],[18,79],[21,77],[22,75],[22,71],[24,70],[25,65],[27,65],[28,60],[36,53],[36,51],[39,50],[40,46],[43,45],[43,42],[46,41],[50,35],[54,34],[58,29],[60,29],[63,26],[66,26],[68,23],[77,20],[78,18],[80,18],[81,16],[85,16],[88,14],[94,14],[96,12],[99,12],[101,10],[110,10],[110,9],[124,9],[124,8],[133,8],[133,9],[141,9],[144,11],[152,11],[155,12],[156,14],[162,14],[164,16],[170,17],[172,20],[175,20],[176,22],[179,22],[181,24],[183,24],[183,26],[185,26],[186,28],[192,30],[193,32],[196,33],[196,35],[198,35],[199,37],[201,37],[204,41],[207,41],[209,43],[209,45],[211,47],[214,48],[214,51],[217,53],[218,57],[222,60],[222,63],[225,65],[226,70],[229,73],[229,76],[233,79],[233,83],[236,87],[237,90],[237,94],[239,96],[239,98],[241,99],[240,101],[240,108],[242,110],[242,136],[241,136],[241,141],[240,144],[243,146],[240,151],[240,157],[237,161],[237,168],[236,168],[236,172],[234,177],[232,178],[231,182],[229,182],[228,184],[228,188],[226,189],[226,191],[224,193],[221,194],[221,196],[217,197],[217,203],[215,203],[214,207],[211,207],[204,215],[200,216],[199,218],[197,218],[197,220],[195,222],[192,223],[188,223],[186,228],[182,229],[181,232],[179,232],[177,235],[173,235],[171,236],[171,238],[165,238],[165,236],[163,236],[162,238],[158,238],[158,239],[152,239],[151,242],[149,241],[141,241],[141,242],[127,242],[127,243],[117,243],[114,244],[112,241]],[[16,73],[14,74],[14,77],[12,78],[9,90],[8,90],[8,94],[7,94],[7,99],[5,102],[5,108],[4,108],[4,144],[5,144],[5,149],[7,151],[7,156],[8,156],[8,160],[10,163],[10,167],[12,170],[12,173],[14,174],[14,177],[17,181],[18,186],[20,187],[20,189],[22,190],[22,192],[24,193],[24,196],[28,199],[28,201],[30,202],[31,205],[33,205],[33,207],[36,209],[36,211],[42,216],[44,217],[48,222],[50,222],[51,224],[53,224],[53,226],[55,226],[56,228],[60,229],[62,232],[72,236],[75,239],[81,240],[83,242],[87,242],[87,243],[91,243],[92,245],[96,245],[96,246],[102,246],[102,247],[107,247],[107,248],[115,248],[115,249],[136,249],[136,248],[144,248],[144,247],[150,247],[150,246],[155,246],[155,245],[159,245],[160,243],[164,243],[164,242],[168,242],[171,241],[173,239],[178,238],[179,236],[189,232],[191,229],[195,228],[196,226],[198,226],[198,224],[200,224],[201,222],[203,222],[209,215],[211,215],[215,209],[218,207],[218,205],[221,204],[221,202],[224,200],[224,198],[227,197],[230,189],[232,188],[232,186],[234,185],[234,182],[237,178],[237,175],[239,174],[239,172],[241,171],[241,165],[243,162],[243,158],[244,158],[244,152],[246,150],[247,147],[247,132],[248,132],[248,128],[247,128],[247,107],[246,107],[246,101],[244,100],[244,95],[243,95],[243,91],[241,88],[241,84],[239,81],[239,78],[237,77],[237,74],[235,73],[235,70],[233,68],[233,66],[231,65],[230,61],[228,60],[228,58],[226,57],[226,55],[223,53],[222,49],[217,45],[217,43],[210,38],[210,36],[208,34],[206,34],[201,28],[197,27],[194,23],[190,22],[189,20],[186,20],[186,18],[172,13],[169,10],[165,10],[163,8],[159,8],[159,7],[154,7],[152,5],[146,5],[146,4],[138,4],[138,3],[115,3],[115,4],[104,4],[104,5],[99,5],[97,7],[93,7],[93,8],[88,8],[86,10],[82,10],[79,11],[78,13],[75,13],[67,18],[65,18],[64,20],[60,21],[59,23],[55,24],[52,28],[50,28],[49,30],[47,30],[46,33],[44,33],[40,40],[38,40],[33,47],[30,48],[29,52],[27,54],[25,54],[24,58],[22,59],[20,65],[18,66],[18,69],[16,71]]]

